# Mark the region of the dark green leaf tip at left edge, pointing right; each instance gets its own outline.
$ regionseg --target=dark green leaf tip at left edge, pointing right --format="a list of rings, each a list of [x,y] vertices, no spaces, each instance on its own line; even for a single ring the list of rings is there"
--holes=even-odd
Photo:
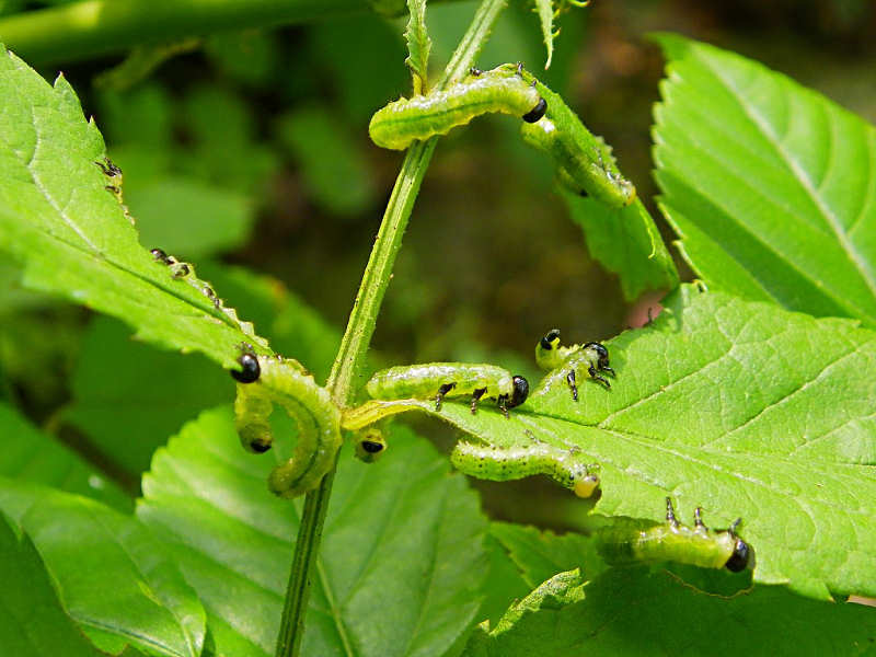
[[[78,493],[120,511],[134,508],[132,500],[106,475],[2,403],[0,436],[0,475]]]

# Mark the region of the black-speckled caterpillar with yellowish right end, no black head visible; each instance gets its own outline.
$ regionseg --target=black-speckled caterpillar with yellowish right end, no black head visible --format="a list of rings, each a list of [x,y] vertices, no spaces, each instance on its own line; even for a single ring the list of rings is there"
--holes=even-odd
[[[599,477],[580,453],[545,443],[527,447],[497,448],[473,442],[458,442],[450,453],[453,466],[468,475],[495,482],[546,474],[572,489],[578,497],[590,497],[599,486]]]

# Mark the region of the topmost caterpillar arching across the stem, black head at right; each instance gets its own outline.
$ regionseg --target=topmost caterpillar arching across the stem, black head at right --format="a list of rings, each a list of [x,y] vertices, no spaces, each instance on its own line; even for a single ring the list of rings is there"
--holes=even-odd
[[[404,150],[416,140],[447,135],[482,114],[510,114],[525,122],[539,120],[546,108],[521,67],[503,65],[489,71],[473,70],[445,91],[399,99],[379,110],[368,126],[381,148]]]

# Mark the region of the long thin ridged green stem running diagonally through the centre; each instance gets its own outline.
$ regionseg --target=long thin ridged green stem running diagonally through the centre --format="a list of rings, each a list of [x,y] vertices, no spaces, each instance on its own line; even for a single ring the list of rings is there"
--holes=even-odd
[[[436,89],[445,89],[472,67],[506,3],[507,0],[483,0]],[[365,268],[347,330],[341,342],[341,349],[326,383],[335,402],[342,407],[349,404],[356,392],[356,377],[371,344],[380,306],[392,278],[395,256],[402,246],[407,220],[411,218],[414,200],[436,143],[437,138],[433,138],[412,146],[402,163],[399,177],[395,178],[395,186],[383,214],[383,221]],[[310,580],[319,554],[333,482],[334,469],[325,475],[320,486],[308,493],[304,498],[289,585],[286,589],[280,632],[277,637],[276,657],[296,657],[301,648],[304,614],[310,598]]]

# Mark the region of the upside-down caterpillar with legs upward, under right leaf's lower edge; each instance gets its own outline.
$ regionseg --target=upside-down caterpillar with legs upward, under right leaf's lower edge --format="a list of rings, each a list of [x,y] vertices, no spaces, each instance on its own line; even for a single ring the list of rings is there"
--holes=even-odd
[[[710,530],[699,507],[694,525],[687,527],[676,518],[672,500],[666,498],[666,525],[646,526],[631,518],[615,518],[609,527],[597,530],[599,554],[610,565],[676,562],[701,568],[727,568],[739,573],[753,565],[754,552],[736,535],[737,519],[724,531]]]

